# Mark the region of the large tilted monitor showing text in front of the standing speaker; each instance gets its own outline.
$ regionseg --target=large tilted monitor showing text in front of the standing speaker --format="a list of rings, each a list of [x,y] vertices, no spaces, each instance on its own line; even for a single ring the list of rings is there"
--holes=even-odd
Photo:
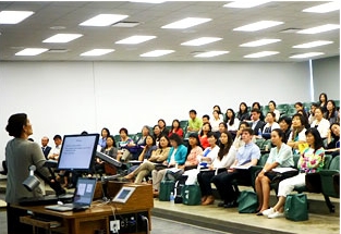
[[[65,135],[57,169],[90,170],[96,155],[98,138],[99,134]]]

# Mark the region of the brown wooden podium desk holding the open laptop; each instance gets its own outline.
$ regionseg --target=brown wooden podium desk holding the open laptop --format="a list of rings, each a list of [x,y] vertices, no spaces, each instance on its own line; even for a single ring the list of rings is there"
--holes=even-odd
[[[113,182],[114,183],[114,182]],[[94,233],[113,233],[112,225],[119,226],[119,233],[147,233],[151,230],[150,211],[154,208],[153,187],[146,184],[115,184],[115,187],[134,187],[135,190],[125,204],[108,202],[102,200],[93,201],[89,209],[84,211],[66,211],[58,212],[45,209],[45,206],[27,206],[11,205],[12,208],[21,210],[29,210],[35,215],[34,222],[27,222],[27,217],[22,220],[26,224],[33,223],[38,227],[50,226],[48,223],[60,223],[58,230],[66,234],[94,234]],[[113,187],[114,187],[113,186]],[[110,187],[110,186],[109,186]],[[119,189],[117,189],[119,192]],[[109,190],[113,193],[113,190]],[[110,194],[110,197],[115,194]],[[148,219],[148,226],[145,219]],[[35,227],[35,226],[34,226]],[[53,230],[56,232],[57,230]]]

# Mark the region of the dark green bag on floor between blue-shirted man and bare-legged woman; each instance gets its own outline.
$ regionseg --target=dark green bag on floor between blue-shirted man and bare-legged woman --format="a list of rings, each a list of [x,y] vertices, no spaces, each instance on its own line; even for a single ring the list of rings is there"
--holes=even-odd
[[[240,213],[254,213],[258,207],[257,194],[252,190],[242,190],[236,202]]]

